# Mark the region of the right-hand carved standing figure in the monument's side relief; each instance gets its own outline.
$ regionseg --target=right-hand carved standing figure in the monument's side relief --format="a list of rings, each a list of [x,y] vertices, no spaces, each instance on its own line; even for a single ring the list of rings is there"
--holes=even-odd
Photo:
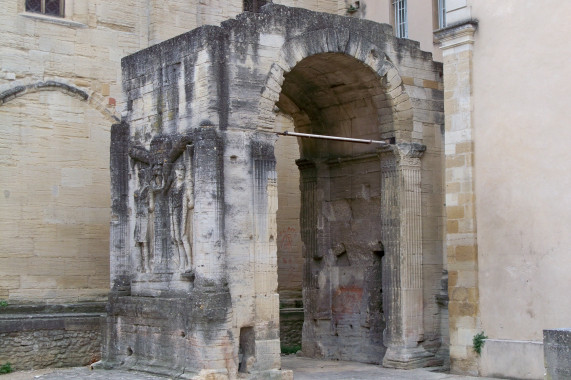
[[[174,178],[168,189],[171,238],[181,272],[192,270],[192,216],[194,197],[190,170],[182,162],[174,167]],[[188,180],[186,180],[188,178]]]

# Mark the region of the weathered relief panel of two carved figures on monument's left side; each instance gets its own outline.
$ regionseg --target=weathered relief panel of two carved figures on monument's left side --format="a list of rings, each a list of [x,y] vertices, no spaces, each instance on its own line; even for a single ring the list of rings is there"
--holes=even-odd
[[[155,136],[131,144],[137,174],[134,240],[140,273],[192,272],[194,180],[188,138]]]

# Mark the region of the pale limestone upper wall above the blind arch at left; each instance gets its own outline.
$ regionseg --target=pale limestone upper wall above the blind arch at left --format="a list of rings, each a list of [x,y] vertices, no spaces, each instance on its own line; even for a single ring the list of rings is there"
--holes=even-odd
[[[65,18],[24,11],[23,1],[5,4],[0,15],[0,85],[66,78],[119,99],[120,60],[146,47],[139,1],[66,2]],[[132,12],[124,12],[128,7]]]

